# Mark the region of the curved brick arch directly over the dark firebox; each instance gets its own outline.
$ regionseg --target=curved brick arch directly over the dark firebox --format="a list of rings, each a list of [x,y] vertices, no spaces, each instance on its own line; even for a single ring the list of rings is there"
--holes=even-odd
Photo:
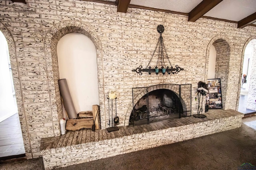
[[[148,93],[158,89],[168,89],[173,91],[178,96],[179,95],[178,86],[179,86],[178,84],[159,84],[155,86],[150,86],[148,87]],[[186,89],[190,90],[190,84],[182,85],[182,86],[185,86]],[[147,94],[146,90],[142,90],[139,94],[137,94],[133,101],[134,104],[136,104],[146,94]],[[180,97],[181,97],[180,101],[182,103],[183,111],[189,111],[191,104],[187,96],[184,94],[184,92],[181,92]],[[125,115],[125,121],[124,121],[125,126],[129,125],[129,119],[130,119],[130,114],[132,113],[132,109],[133,109],[133,104],[131,103]]]

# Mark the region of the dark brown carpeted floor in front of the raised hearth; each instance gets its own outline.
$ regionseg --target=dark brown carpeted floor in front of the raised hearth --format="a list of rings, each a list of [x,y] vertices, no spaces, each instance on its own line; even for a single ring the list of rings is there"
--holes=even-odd
[[[230,131],[58,170],[237,170],[244,163],[256,167],[256,116]],[[0,164],[0,169],[43,170],[44,165],[36,158]]]

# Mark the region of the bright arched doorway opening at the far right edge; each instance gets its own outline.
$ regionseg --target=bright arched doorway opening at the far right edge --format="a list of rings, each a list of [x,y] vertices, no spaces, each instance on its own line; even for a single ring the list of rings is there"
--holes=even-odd
[[[252,67],[256,64],[256,39],[252,39],[244,50],[244,60],[242,65],[242,78],[240,86],[240,98],[238,111],[244,114],[256,111],[256,69]]]

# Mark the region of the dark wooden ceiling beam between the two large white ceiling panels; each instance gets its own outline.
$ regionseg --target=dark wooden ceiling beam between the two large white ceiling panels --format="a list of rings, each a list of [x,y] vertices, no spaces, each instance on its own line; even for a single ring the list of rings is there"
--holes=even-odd
[[[218,5],[222,0],[203,0],[188,13],[188,21],[194,22]]]

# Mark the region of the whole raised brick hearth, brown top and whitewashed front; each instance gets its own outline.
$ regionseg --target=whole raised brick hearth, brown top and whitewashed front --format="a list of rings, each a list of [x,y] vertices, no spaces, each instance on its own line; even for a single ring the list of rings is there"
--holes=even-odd
[[[60,137],[44,138],[40,152],[46,170],[108,158],[204,135],[235,129],[242,124],[242,113],[212,109],[207,118],[193,116],[171,122],[122,126],[119,131],[82,129]]]

